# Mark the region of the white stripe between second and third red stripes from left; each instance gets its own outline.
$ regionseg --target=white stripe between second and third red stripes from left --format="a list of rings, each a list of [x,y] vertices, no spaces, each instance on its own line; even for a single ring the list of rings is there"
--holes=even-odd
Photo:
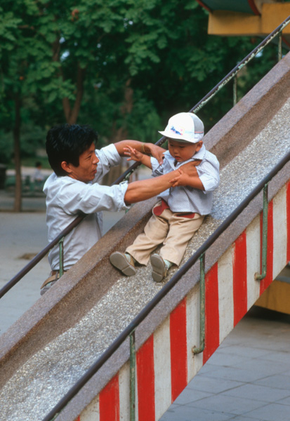
[[[171,357],[169,317],[154,332],[155,420],[171,405]]]

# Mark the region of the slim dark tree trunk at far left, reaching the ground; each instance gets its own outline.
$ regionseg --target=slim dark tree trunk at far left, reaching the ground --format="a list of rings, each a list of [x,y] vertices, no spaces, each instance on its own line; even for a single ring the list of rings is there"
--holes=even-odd
[[[20,95],[19,92],[15,97],[15,123],[13,128],[13,140],[14,140],[14,161],[15,161],[15,200],[14,200],[14,211],[21,212],[22,210],[22,198],[21,198],[21,161],[20,161]]]

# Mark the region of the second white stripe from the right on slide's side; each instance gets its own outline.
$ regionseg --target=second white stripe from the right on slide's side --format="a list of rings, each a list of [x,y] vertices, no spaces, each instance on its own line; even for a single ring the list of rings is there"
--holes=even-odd
[[[246,290],[248,296],[248,310],[258,300],[260,295],[260,281],[256,281],[255,274],[261,271],[261,234],[260,215],[258,215],[246,229]]]

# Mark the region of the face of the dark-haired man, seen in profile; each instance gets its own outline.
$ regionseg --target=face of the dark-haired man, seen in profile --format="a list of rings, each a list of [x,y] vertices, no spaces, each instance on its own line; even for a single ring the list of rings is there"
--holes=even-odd
[[[98,157],[95,155],[95,145],[94,143],[86,149],[80,156],[79,156],[79,166],[75,167],[72,163],[65,163],[65,169],[67,175],[75,180],[79,180],[82,182],[89,182],[95,178],[95,174],[97,173],[97,164],[98,164]]]

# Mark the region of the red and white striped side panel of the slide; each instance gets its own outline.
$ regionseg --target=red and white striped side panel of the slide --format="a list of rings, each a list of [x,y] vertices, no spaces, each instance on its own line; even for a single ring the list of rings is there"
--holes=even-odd
[[[205,347],[199,346],[199,286],[136,353],[136,421],[157,421],[290,261],[290,182],[269,203],[267,275],[261,272],[261,215],[206,274]],[[129,420],[129,365],[120,368],[76,421]]]

